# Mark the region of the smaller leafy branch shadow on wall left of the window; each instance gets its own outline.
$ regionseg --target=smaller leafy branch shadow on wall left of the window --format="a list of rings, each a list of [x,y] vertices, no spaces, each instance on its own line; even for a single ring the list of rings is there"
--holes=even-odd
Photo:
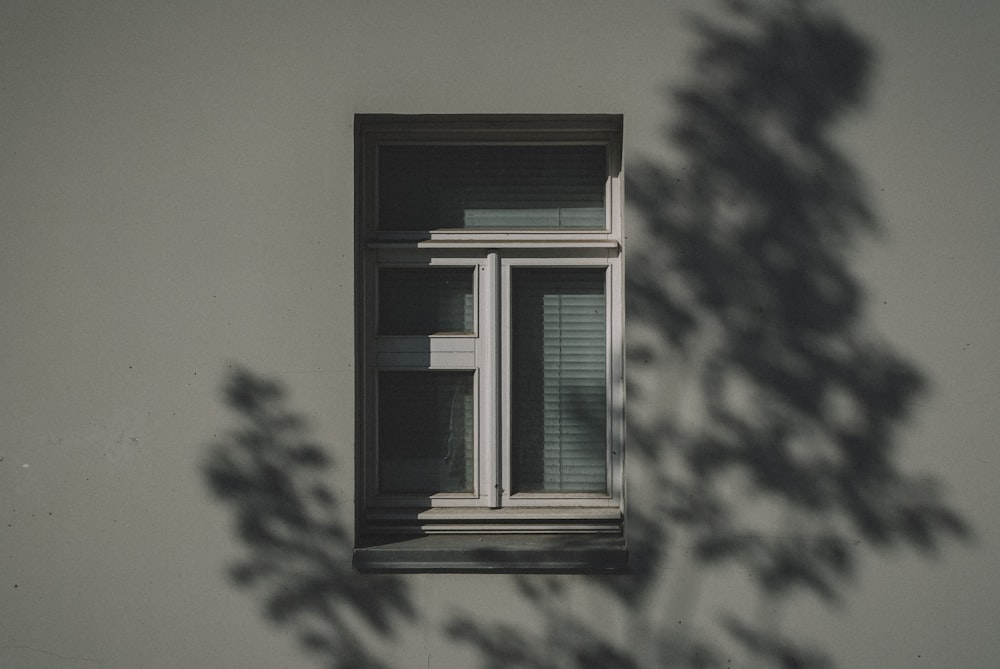
[[[233,584],[254,591],[267,618],[291,629],[323,666],[386,667],[375,649],[415,612],[400,579],[354,572],[354,537],[344,500],[329,487],[326,449],[286,407],[278,382],[239,368],[224,395],[240,424],[210,445],[202,468],[246,546],[229,569]]]

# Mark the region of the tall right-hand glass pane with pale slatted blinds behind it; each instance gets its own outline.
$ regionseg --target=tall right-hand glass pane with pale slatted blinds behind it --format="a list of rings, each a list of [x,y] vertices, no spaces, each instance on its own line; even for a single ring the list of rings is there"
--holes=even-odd
[[[603,269],[512,275],[514,492],[607,491]]]

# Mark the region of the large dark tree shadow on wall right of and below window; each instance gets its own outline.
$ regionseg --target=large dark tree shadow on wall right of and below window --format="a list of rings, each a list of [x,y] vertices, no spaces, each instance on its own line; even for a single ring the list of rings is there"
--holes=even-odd
[[[834,131],[867,97],[872,49],[818,3],[723,9],[691,19],[692,74],[667,99],[676,160],[626,181],[632,573],[591,587],[651,649],[600,641],[558,577],[522,576],[543,629],[449,628],[484,667],[730,667],[734,646],[754,666],[829,667],[766,616],[720,610],[679,631],[698,599],[667,582],[679,556],[697,580],[748,574],[768,605],[836,606],[865,547],[971,538],[939,481],[903,469],[898,433],[928,382],[871,331],[851,272],[879,222]]]

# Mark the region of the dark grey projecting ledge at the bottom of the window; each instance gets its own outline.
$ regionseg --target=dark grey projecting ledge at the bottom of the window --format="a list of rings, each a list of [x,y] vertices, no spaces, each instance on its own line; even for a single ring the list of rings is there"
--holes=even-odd
[[[372,537],[354,550],[361,572],[622,573],[621,535],[432,534]]]

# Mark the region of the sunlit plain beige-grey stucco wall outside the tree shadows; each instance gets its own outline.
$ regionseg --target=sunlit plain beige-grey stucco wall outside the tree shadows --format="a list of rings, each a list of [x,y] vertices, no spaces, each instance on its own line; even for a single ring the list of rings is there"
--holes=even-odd
[[[242,548],[199,465],[239,362],[285,382],[351,499],[353,115],[621,113],[627,170],[664,155],[691,4],[3,3],[0,666],[313,666],[227,582]],[[1000,15],[842,4],[883,53],[846,135],[889,233],[860,269],[934,382],[904,461],[979,539],[869,560],[847,608],[788,625],[844,666],[993,666]],[[398,667],[470,666],[441,632],[457,608],[537,614],[503,576],[407,583]],[[642,636],[600,591],[573,597]]]

